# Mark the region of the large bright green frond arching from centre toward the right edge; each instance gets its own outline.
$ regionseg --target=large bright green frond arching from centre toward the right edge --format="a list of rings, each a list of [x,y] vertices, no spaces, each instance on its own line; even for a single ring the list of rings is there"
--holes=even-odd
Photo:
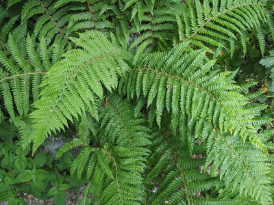
[[[237,135],[242,130],[240,135],[244,140],[249,136],[251,142],[262,148],[260,140],[256,139],[257,137],[254,134],[256,131],[250,126],[252,121],[246,120],[249,119],[247,117],[249,111],[239,107],[239,105],[246,105],[248,103],[247,99],[233,92],[237,89],[236,86],[225,83],[225,79],[231,78],[233,73],[216,74],[215,72],[214,77],[211,74],[205,75],[213,66],[214,61],[208,61],[203,65],[203,61],[206,61],[206,55],[204,51],[199,50],[182,55],[187,45],[187,42],[182,43],[175,46],[169,53],[149,55],[137,66],[138,68],[132,70],[140,77],[135,78],[136,74],[128,74],[134,77],[134,79],[130,79],[130,76],[128,76],[128,81],[136,81],[137,79],[138,81],[134,84],[138,85],[141,81],[141,86],[136,87],[136,89],[123,90],[122,92],[125,94],[126,91],[129,96],[132,96],[129,92],[142,92],[144,96],[147,96],[148,106],[154,102],[157,107],[156,115],[159,126],[162,115],[161,109],[164,109],[162,105],[171,105],[167,110],[171,110],[174,118],[178,113],[177,109],[182,115],[190,115],[192,120],[197,118],[202,120],[207,117],[213,123],[216,122],[214,126],[220,128],[221,131],[224,129],[224,131],[230,131]],[[147,79],[151,79],[151,81],[147,81]],[[121,87],[128,87],[127,82],[121,84]],[[164,98],[164,92],[168,89],[172,89],[171,97]],[[219,92],[221,94],[218,94]],[[199,98],[197,98],[198,96]],[[169,102],[169,100],[172,101]],[[234,115],[229,107],[237,109],[239,115]],[[219,116],[221,113],[223,116]],[[226,119],[224,119],[225,117]],[[229,120],[229,118],[231,119]],[[179,122],[174,123],[172,125],[173,131],[176,131]]]

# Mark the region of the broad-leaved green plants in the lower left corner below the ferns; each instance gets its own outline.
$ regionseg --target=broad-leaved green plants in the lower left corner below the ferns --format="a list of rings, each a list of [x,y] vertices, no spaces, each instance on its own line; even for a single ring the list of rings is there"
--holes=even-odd
[[[5,121],[1,122],[1,125],[3,124]],[[17,128],[12,128],[13,124],[5,124],[5,126],[10,133],[12,131],[18,133]],[[52,162],[52,154],[42,151],[32,157],[29,153],[30,146],[23,149],[21,141],[18,139],[12,141],[16,135],[6,136],[6,139],[1,136],[0,142],[0,201],[25,204],[21,195],[25,192],[43,200],[48,200],[54,195],[56,204],[64,204],[66,198],[64,191],[69,188],[77,189],[79,186],[75,184],[78,181],[76,175],[68,178],[59,174],[71,167],[73,156],[64,154],[60,159]],[[85,181],[81,182],[84,183]],[[55,189],[57,191],[53,193]]]

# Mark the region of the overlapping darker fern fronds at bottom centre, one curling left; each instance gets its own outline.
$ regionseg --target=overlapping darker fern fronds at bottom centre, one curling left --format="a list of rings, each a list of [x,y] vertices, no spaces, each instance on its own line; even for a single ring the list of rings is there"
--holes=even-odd
[[[134,118],[133,110],[119,94],[110,94],[106,106],[99,104],[101,128],[98,135],[101,137],[100,142],[95,143],[99,146],[92,148],[80,136],[58,152],[59,157],[75,146],[84,147],[71,167],[71,174],[77,172],[80,178],[87,163],[86,177],[92,178],[94,186],[101,187],[95,194],[104,204],[138,204],[145,194],[140,174],[148,152],[145,146],[151,141],[149,129],[142,125],[145,120]]]

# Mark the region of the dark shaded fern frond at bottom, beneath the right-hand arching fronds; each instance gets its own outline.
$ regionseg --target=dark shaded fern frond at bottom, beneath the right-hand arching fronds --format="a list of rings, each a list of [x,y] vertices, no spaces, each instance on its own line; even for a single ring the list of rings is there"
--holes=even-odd
[[[204,158],[192,159],[187,143],[181,141],[179,135],[155,131],[153,140],[152,146],[149,146],[153,154],[147,162],[147,167],[152,165],[152,169],[147,169],[146,181],[149,183],[146,187],[150,190],[157,188],[147,198],[149,204],[191,204],[197,200],[195,193],[214,189],[219,183],[216,178],[212,180],[200,172]],[[199,153],[199,148],[194,152]],[[162,163],[161,159],[166,163]]]

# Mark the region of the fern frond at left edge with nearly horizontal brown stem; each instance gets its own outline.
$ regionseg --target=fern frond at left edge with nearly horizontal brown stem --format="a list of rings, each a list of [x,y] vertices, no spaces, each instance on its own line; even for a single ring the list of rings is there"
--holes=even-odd
[[[26,33],[24,33],[25,35]],[[53,51],[47,49],[47,46],[42,50],[35,49],[36,42],[29,35],[27,39],[23,38],[23,42],[26,42],[26,46],[23,48],[18,47],[16,41],[18,39],[14,40],[14,36],[10,34],[7,45],[8,51],[5,49],[0,51],[0,61],[4,66],[1,69],[0,83],[3,83],[1,90],[10,115],[14,116],[14,111],[11,110],[14,103],[18,113],[23,116],[27,115],[29,111],[29,102],[39,98],[40,88],[38,85],[40,85],[42,76],[47,73],[52,65],[49,59]],[[40,38],[40,42],[45,42],[45,39]],[[22,50],[27,53],[27,58],[23,55]],[[56,51],[60,54],[64,52],[60,49]],[[42,61],[44,63],[47,61],[47,64],[41,64]],[[11,88],[12,93],[6,90],[10,89],[8,87]]]

